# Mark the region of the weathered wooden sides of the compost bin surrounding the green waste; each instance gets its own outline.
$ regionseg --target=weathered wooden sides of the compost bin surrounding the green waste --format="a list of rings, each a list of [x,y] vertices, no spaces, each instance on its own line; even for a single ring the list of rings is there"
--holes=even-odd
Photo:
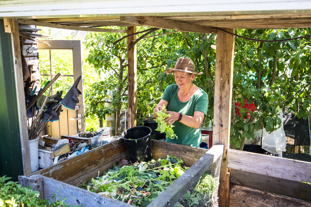
[[[224,146],[215,145],[210,150],[189,147],[152,140],[152,158],[158,159],[167,155],[181,157],[184,164],[190,167],[182,176],[176,179],[148,206],[167,206],[177,201],[189,187],[207,170],[213,170],[213,163],[221,159]],[[40,197],[52,200],[57,193],[62,198],[67,198],[69,205],[82,204],[85,206],[132,206],[119,200],[101,196],[97,193],[76,187],[78,183],[88,181],[111,169],[114,163],[123,158],[129,160],[123,139],[117,139],[70,159],[41,169],[29,176],[19,176],[19,183],[33,186],[40,192]],[[212,172],[213,173],[213,172]]]

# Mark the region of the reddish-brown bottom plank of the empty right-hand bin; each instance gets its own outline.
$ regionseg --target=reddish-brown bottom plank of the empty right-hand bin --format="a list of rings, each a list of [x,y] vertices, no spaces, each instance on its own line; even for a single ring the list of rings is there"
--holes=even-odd
[[[230,188],[230,207],[310,207],[311,203],[295,198],[289,198],[272,194],[265,191],[260,191],[250,187],[234,185]]]

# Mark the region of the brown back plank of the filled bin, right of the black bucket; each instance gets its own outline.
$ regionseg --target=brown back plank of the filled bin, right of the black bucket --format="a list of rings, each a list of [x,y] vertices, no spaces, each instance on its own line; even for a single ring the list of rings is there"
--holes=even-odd
[[[153,159],[158,159],[160,157],[166,158],[166,155],[172,154],[178,158],[181,157],[187,167],[193,165],[207,151],[202,148],[162,142],[159,140],[152,140],[151,146]]]

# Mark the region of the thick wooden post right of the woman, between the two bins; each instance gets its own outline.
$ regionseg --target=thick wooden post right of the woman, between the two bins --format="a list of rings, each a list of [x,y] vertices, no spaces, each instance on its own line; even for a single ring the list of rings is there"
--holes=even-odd
[[[234,33],[234,29],[225,29]],[[234,36],[224,31],[217,31],[215,63],[215,96],[213,145],[224,145],[219,178],[219,206],[226,206],[227,188],[227,152],[230,145],[230,115],[233,81]]]

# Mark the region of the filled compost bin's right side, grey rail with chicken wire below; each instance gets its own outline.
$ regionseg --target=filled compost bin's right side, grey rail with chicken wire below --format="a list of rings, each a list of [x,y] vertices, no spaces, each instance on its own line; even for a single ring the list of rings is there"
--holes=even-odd
[[[219,174],[223,149],[223,145],[213,146],[148,207],[218,206]]]

